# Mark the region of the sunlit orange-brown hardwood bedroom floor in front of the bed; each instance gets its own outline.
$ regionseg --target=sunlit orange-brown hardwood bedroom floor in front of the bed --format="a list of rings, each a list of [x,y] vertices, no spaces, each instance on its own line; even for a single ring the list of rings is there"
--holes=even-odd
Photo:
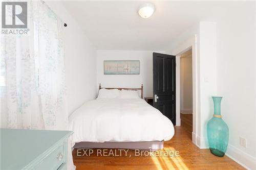
[[[97,156],[97,149],[93,154],[81,156],[84,152],[73,151],[73,160],[76,169],[245,169],[227,156],[217,157],[209,150],[200,150],[191,142],[184,127],[175,127],[175,136],[164,142],[163,151],[179,151],[179,156],[135,156],[135,151],[129,150],[127,156]],[[100,150],[103,153],[103,150]],[[107,150],[110,153],[110,149]],[[113,152],[118,150],[113,150]],[[108,154],[107,154],[108,155]],[[121,155],[117,152],[117,155]],[[130,156],[131,155],[131,156]],[[177,154],[178,155],[178,154]]]

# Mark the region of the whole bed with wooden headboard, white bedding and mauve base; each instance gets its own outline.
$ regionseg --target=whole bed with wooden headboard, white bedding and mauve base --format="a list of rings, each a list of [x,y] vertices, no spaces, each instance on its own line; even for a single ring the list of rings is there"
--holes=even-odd
[[[112,90],[112,91],[111,91]],[[105,95],[102,95],[105,91]],[[137,93],[137,94],[136,94]],[[136,97],[138,95],[139,97]],[[101,96],[101,97],[100,97]],[[143,100],[141,88],[102,88],[69,117],[74,148],[156,151],[174,136],[172,122]]]

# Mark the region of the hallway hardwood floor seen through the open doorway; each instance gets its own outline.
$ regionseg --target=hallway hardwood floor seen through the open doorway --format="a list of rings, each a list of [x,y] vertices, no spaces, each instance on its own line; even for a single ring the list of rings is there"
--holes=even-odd
[[[186,131],[189,139],[192,140],[193,132],[193,114],[182,114],[180,113],[180,126]]]

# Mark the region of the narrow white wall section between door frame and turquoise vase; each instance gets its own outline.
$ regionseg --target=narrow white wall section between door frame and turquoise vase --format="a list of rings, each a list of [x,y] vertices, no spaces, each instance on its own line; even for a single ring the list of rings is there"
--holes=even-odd
[[[200,119],[201,148],[208,147],[206,125],[213,114],[211,96],[217,94],[216,23],[200,22]]]

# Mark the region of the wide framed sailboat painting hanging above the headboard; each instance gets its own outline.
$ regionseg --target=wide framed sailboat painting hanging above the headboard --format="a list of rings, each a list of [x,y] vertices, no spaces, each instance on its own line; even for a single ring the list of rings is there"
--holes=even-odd
[[[139,75],[140,61],[104,61],[104,75]]]

